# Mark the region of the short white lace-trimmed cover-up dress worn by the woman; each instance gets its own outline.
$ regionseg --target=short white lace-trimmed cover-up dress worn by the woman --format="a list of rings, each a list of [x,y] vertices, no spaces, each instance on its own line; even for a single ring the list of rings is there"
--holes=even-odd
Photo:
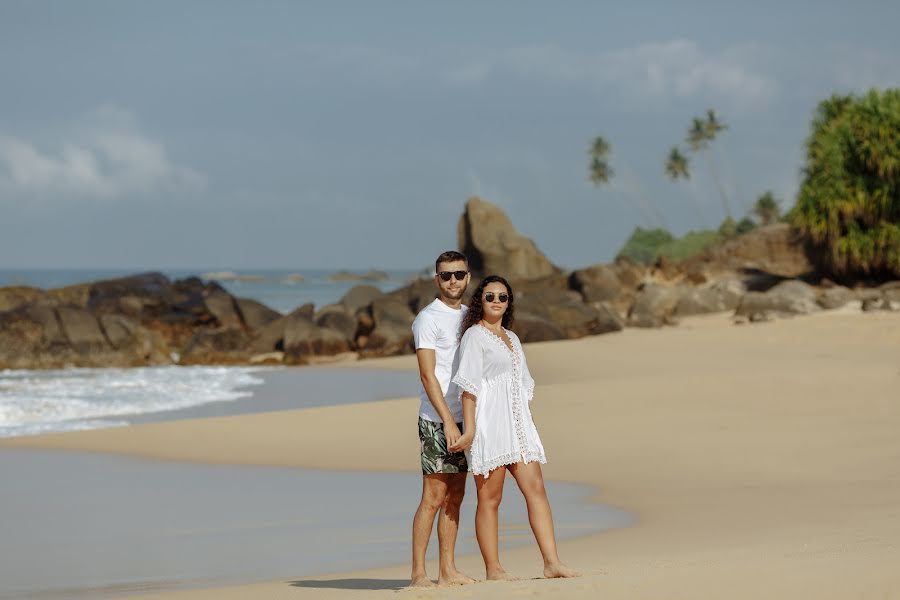
[[[529,408],[534,379],[519,338],[504,331],[512,350],[484,326],[469,327],[460,341],[459,367],[452,379],[460,396],[464,391],[475,396],[475,437],[466,458],[469,470],[485,477],[503,465],[547,462]]]

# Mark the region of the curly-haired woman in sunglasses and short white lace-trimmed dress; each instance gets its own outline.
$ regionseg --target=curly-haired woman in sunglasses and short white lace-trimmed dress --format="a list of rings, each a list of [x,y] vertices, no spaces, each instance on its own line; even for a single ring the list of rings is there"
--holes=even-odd
[[[556,553],[553,516],[544,489],[544,447],[531,420],[534,380],[522,344],[508,329],[513,293],[497,275],[475,289],[460,328],[459,367],[454,376],[463,405],[465,433],[451,450],[466,449],[475,474],[478,508],[475,536],[488,579],[515,579],[500,565],[497,511],[506,472],[516,479],[528,506],[528,522],[544,557],[544,577],[578,577]]]

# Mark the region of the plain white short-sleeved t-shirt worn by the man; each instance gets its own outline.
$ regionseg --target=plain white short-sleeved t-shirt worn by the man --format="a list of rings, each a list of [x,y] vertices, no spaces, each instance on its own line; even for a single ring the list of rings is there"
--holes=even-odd
[[[435,298],[434,302],[423,308],[413,321],[416,350],[420,348],[434,350],[434,375],[441,384],[444,400],[453,415],[453,420],[457,423],[462,422],[462,404],[459,402],[456,386],[452,386],[453,393],[448,392],[456,355],[459,352],[459,326],[467,310],[466,306],[459,309],[450,308],[439,298]],[[421,398],[419,416],[433,423],[442,423],[443,420],[428,399],[425,386],[422,386],[419,397]]]

